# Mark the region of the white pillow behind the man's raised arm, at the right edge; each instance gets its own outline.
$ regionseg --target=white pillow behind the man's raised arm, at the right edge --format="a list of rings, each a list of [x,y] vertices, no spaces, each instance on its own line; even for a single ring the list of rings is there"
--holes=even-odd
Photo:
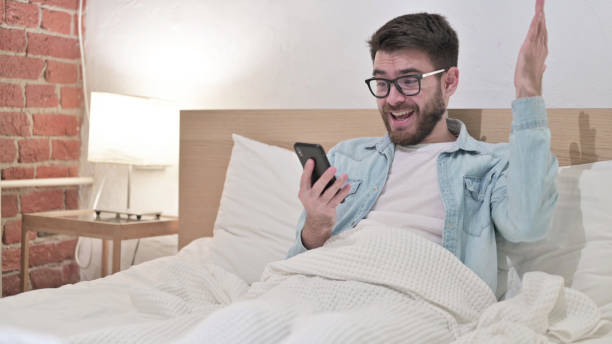
[[[508,256],[521,276],[535,270],[560,275],[599,306],[612,303],[612,161],[560,168],[557,190],[548,237],[503,242],[502,257]]]

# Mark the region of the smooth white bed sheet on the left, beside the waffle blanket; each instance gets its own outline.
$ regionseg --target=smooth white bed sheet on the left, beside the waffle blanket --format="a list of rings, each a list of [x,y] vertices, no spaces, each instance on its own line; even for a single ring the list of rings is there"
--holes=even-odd
[[[125,328],[137,335],[139,325],[151,332],[151,324],[157,323],[158,333],[143,338],[169,342],[248,288],[236,275],[210,263],[210,241],[196,240],[177,255],[102,279],[0,299],[0,327],[86,343],[100,340],[93,332],[114,329],[119,335]],[[101,341],[116,342],[110,337]],[[0,342],[11,341],[0,336]]]

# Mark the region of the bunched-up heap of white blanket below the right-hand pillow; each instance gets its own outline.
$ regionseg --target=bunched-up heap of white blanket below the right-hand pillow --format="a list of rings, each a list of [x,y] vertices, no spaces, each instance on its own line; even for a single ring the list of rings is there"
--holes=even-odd
[[[572,343],[609,325],[595,303],[564,288],[560,276],[529,272],[516,297],[487,308],[477,328],[457,343]]]

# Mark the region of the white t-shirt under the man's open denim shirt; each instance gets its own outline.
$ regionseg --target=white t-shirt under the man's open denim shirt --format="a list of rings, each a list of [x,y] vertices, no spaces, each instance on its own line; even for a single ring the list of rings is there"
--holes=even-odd
[[[437,159],[453,144],[396,145],[382,193],[359,224],[406,228],[441,244],[445,215]]]

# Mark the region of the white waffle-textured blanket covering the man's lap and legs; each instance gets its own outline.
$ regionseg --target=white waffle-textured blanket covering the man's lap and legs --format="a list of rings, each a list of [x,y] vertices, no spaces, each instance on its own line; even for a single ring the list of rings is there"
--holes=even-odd
[[[524,288],[496,303],[440,246],[401,229],[358,228],[270,264],[242,301],[183,342],[536,343],[597,329],[597,307],[560,278],[527,275]]]

